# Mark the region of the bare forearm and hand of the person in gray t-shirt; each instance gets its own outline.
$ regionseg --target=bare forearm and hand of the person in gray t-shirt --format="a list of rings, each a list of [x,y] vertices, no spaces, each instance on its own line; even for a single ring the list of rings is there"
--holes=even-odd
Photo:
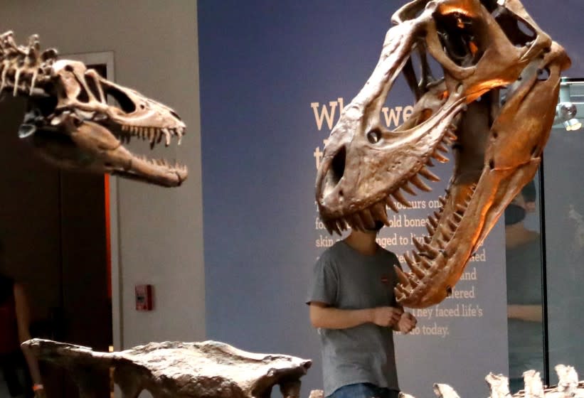
[[[393,326],[400,320],[403,310],[395,307],[363,308],[345,310],[327,306],[326,303],[310,303],[310,322],[314,328],[347,329],[375,323],[378,326]]]

